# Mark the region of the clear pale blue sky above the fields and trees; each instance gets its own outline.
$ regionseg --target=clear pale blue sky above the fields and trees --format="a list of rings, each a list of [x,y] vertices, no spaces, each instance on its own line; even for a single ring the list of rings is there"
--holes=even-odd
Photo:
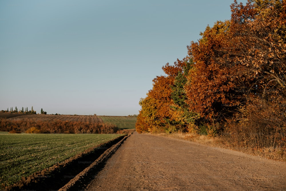
[[[162,66],[230,19],[231,3],[0,0],[0,110],[138,114]]]

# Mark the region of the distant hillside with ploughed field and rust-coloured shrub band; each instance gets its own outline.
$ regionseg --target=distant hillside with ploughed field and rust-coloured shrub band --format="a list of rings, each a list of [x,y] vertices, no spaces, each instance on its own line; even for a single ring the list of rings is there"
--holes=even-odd
[[[137,120],[136,117],[129,117],[129,116],[126,117],[126,116],[91,116],[91,115],[84,116],[84,115],[43,115],[43,114],[25,115],[25,114],[6,114],[6,113],[0,113],[0,118],[2,118],[3,120],[5,119],[8,120],[7,122],[4,122],[2,120],[0,127],[2,131],[6,130],[11,131],[12,129],[14,129],[16,132],[24,132],[24,129],[27,130],[32,126],[37,127],[37,129],[42,129],[44,126],[47,126],[48,123],[49,124],[48,126],[54,126],[55,128],[62,128],[63,126],[66,126],[66,128],[69,129],[69,127],[75,128],[76,126],[78,126],[80,132],[82,133],[88,133],[88,131],[82,131],[82,128],[80,127],[81,126],[80,124],[82,123],[84,123],[85,127],[94,125],[102,126],[100,124],[105,124],[105,126],[113,126],[119,130],[123,130],[123,129],[135,129],[135,124]],[[11,124],[11,121],[14,121],[13,124]],[[29,124],[27,125],[25,121],[29,122]],[[22,122],[24,122],[24,124]],[[57,123],[53,124],[54,122]],[[26,126],[26,128],[23,128],[22,127],[23,125]],[[13,126],[13,128],[9,128],[10,126]],[[49,130],[49,132],[51,131]],[[68,132],[73,133],[74,131],[67,130],[65,133]]]

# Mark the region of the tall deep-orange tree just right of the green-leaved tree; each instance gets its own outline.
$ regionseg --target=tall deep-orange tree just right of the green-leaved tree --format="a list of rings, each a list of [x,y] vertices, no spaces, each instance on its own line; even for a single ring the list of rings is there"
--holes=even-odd
[[[206,27],[202,38],[188,46],[188,55],[193,57],[194,68],[189,71],[185,85],[190,110],[200,114],[216,131],[221,120],[231,116],[237,105],[233,100],[235,91],[231,71],[218,61],[223,53],[216,51],[225,47],[230,21],[217,21]]]

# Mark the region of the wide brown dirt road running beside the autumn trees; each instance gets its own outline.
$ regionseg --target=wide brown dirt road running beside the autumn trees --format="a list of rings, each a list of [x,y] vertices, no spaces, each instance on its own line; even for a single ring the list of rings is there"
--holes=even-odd
[[[86,190],[286,190],[286,164],[135,133]]]

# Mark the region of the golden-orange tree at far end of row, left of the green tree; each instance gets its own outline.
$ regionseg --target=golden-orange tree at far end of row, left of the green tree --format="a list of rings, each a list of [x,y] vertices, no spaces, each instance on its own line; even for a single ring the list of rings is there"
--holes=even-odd
[[[174,79],[179,71],[182,71],[184,62],[167,63],[162,67],[166,76],[157,76],[153,79],[153,88],[149,90],[147,97],[139,102],[142,107],[136,123],[138,132],[162,132],[170,129],[177,130],[176,122],[170,113],[174,102],[171,98]]]

